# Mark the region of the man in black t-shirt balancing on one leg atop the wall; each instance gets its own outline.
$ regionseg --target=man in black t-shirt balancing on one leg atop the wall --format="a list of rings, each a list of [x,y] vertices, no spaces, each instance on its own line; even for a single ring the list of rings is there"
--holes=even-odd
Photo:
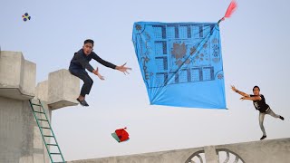
[[[259,110],[259,124],[260,124],[260,128],[263,132],[263,136],[261,139],[266,139],[266,131],[264,128],[264,117],[266,114],[271,115],[274,118],[279,118],[281,120],[284,120],[284,117],[275,114],[275,112],[273,110],[271,110],[271,108],[269,107],[269,105],[266,104],[266,100],[265,97],[263,96],[263,94],[260,94],[260,88],[258,86],[255,86],[253,88],[253,94],[247,94],[243,91],[238,91],[235,86],[232,86],[232,90],[236,91],[238,94],[242,95],[243,97],[240,98],[240,100],[249,100],[249,101],[253,101],[253,104],[256,108],[256,110]]]

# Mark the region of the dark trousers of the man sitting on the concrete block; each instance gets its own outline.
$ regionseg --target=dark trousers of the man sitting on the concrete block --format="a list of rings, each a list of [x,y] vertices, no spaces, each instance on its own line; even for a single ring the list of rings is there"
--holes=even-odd
[[[82,69],[70,69],[69,70],[74,76],[80,78],[83,82],[81,95],[84,97],[86,94],[89,94],[92,89],[92,78],[89,76],[88,72]]]

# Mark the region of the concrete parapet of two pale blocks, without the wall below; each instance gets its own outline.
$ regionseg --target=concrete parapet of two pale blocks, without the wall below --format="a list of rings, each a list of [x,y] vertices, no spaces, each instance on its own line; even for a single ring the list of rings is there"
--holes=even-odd
[[[68,70],[49,73],[48,81],[40,82],[35,91],[36,64],[24,60],[20,52],[0,53],[0,97],[25,101],[34,98],[47,101],[50,109],[77,105],[80,80]]]

